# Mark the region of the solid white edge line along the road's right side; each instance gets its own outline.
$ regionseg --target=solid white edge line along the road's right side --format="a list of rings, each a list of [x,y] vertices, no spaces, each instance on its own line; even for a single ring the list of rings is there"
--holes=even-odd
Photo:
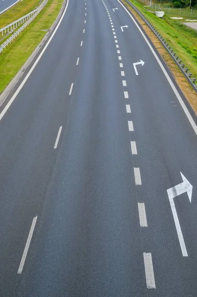
[[[149,43],[149,41],[148,41],[147,38],[145,37],[145,35],[144,35],[144,33],[142,32],[142,30],[140,29],[139,25],[136,23],[136,21],[135,21],[134,18],[132,17],[131,13],[125,8],[125,6],[121,3],[120,0],[117,0],[117,1],[118,1],[118,2],[123,6],[123,8],[127,11],[127,13],[129,14],[129,16],[131,17],[132,21],[133,21],[134,24],[136,25],[137,29],[139,30],[139,32],[141,33],[141,35],[142,35],[143,38],[145,39],[145,41],[146,41],[148,47],[150,48],[150,50],[152,51],[154,57],[156,58],[156,60],[157,60],[157,62],[158,62],[158,64],[159,64],[159,66],[161,67],[161,69],[162,69],[162,71],[163,71],[165,77],[167,78],[167,80],[168,80],[168,82],[169,82],[169,84],[170,84],[172,90],[174,91],[174,93],[175,93],[177,99],[179,100],[179,102],[180,102],[180,104],[181,104],[181,106],[182,106],[182,108],[183,108],[183,110],[184,110],[184,112],[185,112],[187,118],[188,118],[189,121],[190,121],[190,124],[192,125],[192,127],[193,127],[193,129],[194,129],[194,131],[195,131],[195,133],[196,133],[196,135],[197,135],[197,125],[196,125],[196,123],[195,123],[193,117],[191,116],[191,114],[190,114],[188,108],[186,107],[186,105],[185,105],[183,99],[181,98],[179,92],[177,91],[175,85],[173,84],[173,82],[172,82],[170,76],[168,75],[167,71],[165,70],[164,66],[162,65],[162,63],[161,63],[161,61],[160,61],[158,55],[156,54],[156,52],[155,52],[154,49],[152,48],[151,44]]]

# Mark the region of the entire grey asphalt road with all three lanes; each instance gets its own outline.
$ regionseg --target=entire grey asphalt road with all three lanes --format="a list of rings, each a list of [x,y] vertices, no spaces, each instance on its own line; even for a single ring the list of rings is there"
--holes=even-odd
[[[0,114],[0,296],[197,296],[197,135],[177,96],[119,1],[69,0]],[[192,200],[171,209],[180,172]]]

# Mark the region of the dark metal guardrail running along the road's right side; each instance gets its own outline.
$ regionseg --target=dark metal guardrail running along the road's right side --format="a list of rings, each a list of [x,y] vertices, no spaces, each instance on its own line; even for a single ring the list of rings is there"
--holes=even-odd
[[[147,18],[139,11],[134,4],[132,4],[129,0],[126,0],[128,4],[131,5],[131,7],[141,16],[141,18],[144,20],[144,22],[148,25],[148,27],[151,29],[151,31],[156,35],[156,37],[159,39],[159,41],[162,43],[165,49],[169,52],[175,63],[179,66],[182,73],[185,75],[191,86],[194,88],[194,90],[197,92],[197,80],[190,72],[189,68],[185,66],[185,64],[182,62],[182,60],[179,58],[179,56],[175,53],[175,51],[169,46],[169,44],[165,41],[165,39],[161,36],[161,34],[154,28],[154,26],[147,20]]]

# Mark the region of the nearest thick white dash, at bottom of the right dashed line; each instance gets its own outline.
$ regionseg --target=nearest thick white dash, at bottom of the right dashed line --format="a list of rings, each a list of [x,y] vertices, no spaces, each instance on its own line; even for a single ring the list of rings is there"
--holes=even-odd
[[[146,286],[148,289],[155,289],[155,278],[152,265],[152,255],[151,252],[143,253],[145,275],[146,275]]]

